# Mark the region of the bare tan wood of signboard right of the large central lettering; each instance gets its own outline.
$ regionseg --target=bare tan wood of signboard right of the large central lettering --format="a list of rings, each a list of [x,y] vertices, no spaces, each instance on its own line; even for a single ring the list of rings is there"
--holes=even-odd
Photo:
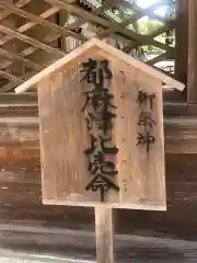
[[[120,69],[124,71],[124,76],[119,73]],[[118,60],[112,64],[112,71],[114,73],[112,90],[115,95],[115,105],[118,107],[115,121],[115,138],[119,148],[117,167],[118,182],[121,188],[120,203],[128,204],[127,207],[129,207],[129,203],[137,205],[139,203],[144,205],[144,209],[146,206],[149,209],[149,205],[155,205],[155,209],[160,209],[160,207],[165,209],[161,81],[152,79],[140,70],[126,67]],[[154,93],[157,98],[152,111],[152,118],[157,122],[153,129],[155,144],[151,146],[148,155],[143,147],[136,147],[137,123],[140,112],[136,103],[138,89]],[[142,206],[137,208],[141,209]]]

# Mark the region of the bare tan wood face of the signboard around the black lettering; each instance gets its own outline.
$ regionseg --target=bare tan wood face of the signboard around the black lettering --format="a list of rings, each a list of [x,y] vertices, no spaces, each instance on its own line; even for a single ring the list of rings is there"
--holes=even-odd
[[[117,106],[113,144],[119,149],[118,175],[115,178],[119,192],[108,191],[105,203],[101,204],[99,192],[85,191],[91,180],[83,153],[90,146],[81,111],[85,84],[80,83],[78,71],[73,73],[72,68],[65,67],[38,84],[44,204],[163,210],[166,205],[162,82],[118,59],[109,61],[114,75],[111,90]],[[157,123],[153,129],[155,142],[149,153],[144,147],[136,147],[139,89],[154,93],[157,98],[152,111]]]

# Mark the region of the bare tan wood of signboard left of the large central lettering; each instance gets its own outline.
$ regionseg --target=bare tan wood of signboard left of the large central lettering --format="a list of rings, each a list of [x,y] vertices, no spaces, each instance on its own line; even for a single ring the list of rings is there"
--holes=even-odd
[[[83,89],[78,83],[70,73],[59,72],[38,88],[44,202],[59,199],[77,205],[100,197],[85,191],[90,180],[83,153],[88,133],[81,113]]]

